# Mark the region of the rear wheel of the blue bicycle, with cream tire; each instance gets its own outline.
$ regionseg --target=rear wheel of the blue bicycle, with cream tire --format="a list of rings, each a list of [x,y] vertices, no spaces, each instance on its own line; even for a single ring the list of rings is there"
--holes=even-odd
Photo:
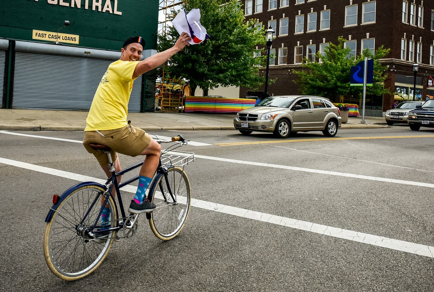
[[[53,272],[53,274],[58,276],[60,279],[72,281],[84,278],[95,271],[95,269],[98,268],[98,266],[104,261],[105,256],[107,256],[115,237],[114,232],[109,233],[108,239],[105,240],[101,246],[98,246],[101,243],[95,242],[95,240],[90,240],[86,243],[83,236],[77,232],[76,226],[73,226],[73,223],[76,223],[77,225],[82,220],[85,212],[89,210],[91,203],[93,200],[95,200],[95,196],[104,193],[104,191],[105,190],[102,187],[95,184],[88,184],[78,187],[76,190],[72,190],[71,194],[69,194],[62,201],[62,203],[60,203],[59,207],[57,207],[51,221],[46,224],[43,241],[44,257],[51,272]],[[82,199],[80,202],[80,194],[83,195],[83,198],[84,196],[87,197],[87,202],[85,202],[84,199]],[[87,208],[85,208],[85,204],[87,204]],[[110,227],[113,228],[115,226],[115,222],[118,220],[118,217],[116,213],[115,202],[112,196],[109,196],[108,204],[111,216]],[[75,206],[77,206],[79,211],[76,213],[76,210],[73,210],[72,215],[70,209],[75,209]],[[98,211],[100,208],[101,203],[99,203],[98,200],[93,205],[92,210],[86,218],[86,224],[89,226],[93,225],[96,217],[98,216]],[[67,216],[69,216],[69,218],[67,218]],[[74,219],[72,219],[72,216]],[[56,242],[56,240],[58,241]],[[68,253],[67,248],[69,248],[70,243],[73,244],[73,241],[75,241],[75,246],[73,247],[71,253],[67,255],[65,259],[60,258],[63,251]],[[66,242],[66,244],[64,244],[64,242]],[[86,245],[88,245],[89,249],[86,248]],[[93,253],[91,249],[96,252],[95,254],[98,254],[95,256],[95,259],[93,259],[94,257],[90,255],[90,253]],[[59,253],[60,255],[57,256]],[[81,253],[81,259],[78,263],[78,270],[75,271],[75,263],[73,261],[75,260],[76,253],[77,257],[79,257]],[[57,258],[55,258],[56,256]],[[66,264],[63,265],[63,263],[71,256],[72,262],[66,262]],[[61,260],[63,261],[60,262]],[[89,265],[85,266],[85,262],[87,262]],[[81,266],[82,268],[80,268]]]

